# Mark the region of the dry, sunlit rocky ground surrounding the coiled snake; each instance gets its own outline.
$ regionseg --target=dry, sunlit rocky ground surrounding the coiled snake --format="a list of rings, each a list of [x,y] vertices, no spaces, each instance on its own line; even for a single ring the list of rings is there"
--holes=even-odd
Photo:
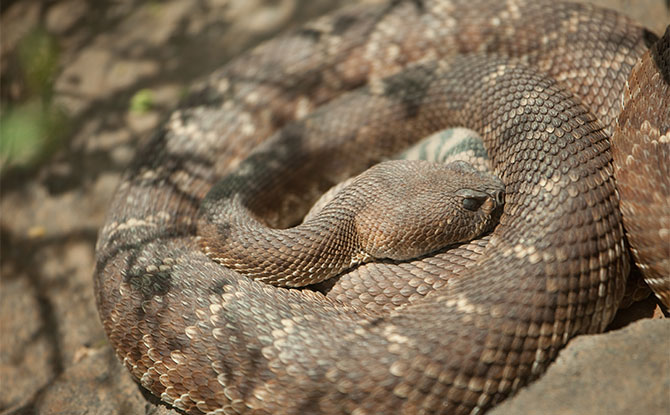
[[[352,1],[2,3],[0,414],[176,413],[131,380],[97,316],[91,276],[107,204],[138,140],[189,85]],[[663,0],[594,2],[657,33],[670,21]],[[23,141],[10,146],[17,131]],[[655,307],[647,300],[616,327],[642,321],[576,339],[494,412],[667,411],[670,321],[648,318]]]

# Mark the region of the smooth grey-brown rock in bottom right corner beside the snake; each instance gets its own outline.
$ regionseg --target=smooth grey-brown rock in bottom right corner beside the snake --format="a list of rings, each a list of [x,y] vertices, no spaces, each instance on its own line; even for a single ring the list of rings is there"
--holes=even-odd
[[[538,382],[490,413],[670,413],[670,320],[575,338]]]

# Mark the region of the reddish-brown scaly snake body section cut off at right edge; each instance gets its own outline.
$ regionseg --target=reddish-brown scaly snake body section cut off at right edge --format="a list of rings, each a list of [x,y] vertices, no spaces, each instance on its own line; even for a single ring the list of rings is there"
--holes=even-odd
[[[669,31],[633,68],[612,136],[612,156],[633,258],[670,308]]]

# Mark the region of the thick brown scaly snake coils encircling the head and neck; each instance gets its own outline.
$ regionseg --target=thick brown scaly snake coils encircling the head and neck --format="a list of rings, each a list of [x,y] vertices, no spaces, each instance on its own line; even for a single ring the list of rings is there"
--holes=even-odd
[[[112,346],[191,414],[482,413],[617,308],[629,263],[608,136],[654,38],[579,4],[408,0],[241,56],[139,150],[114,196],[95,273]],[[200,202],[224,174],[267,172],[249,183],[268,189],[252,210],[287,226],[332,184],[454,125],[482,134],[504,212],[455,253],[357,269],[408,276],[403,307],[271,287],[199,249]]]

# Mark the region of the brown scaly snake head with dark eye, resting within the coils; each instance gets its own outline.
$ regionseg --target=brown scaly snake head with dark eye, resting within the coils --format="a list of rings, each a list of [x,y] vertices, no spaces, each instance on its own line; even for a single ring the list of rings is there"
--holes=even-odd
[[[471,164],[396,160],[369,170],[356,214],[357,239],[372,258],[408,260],[471,241],[493,228],[505,199],[502,181]],[[363,187],[361,187],[362,189]]]

